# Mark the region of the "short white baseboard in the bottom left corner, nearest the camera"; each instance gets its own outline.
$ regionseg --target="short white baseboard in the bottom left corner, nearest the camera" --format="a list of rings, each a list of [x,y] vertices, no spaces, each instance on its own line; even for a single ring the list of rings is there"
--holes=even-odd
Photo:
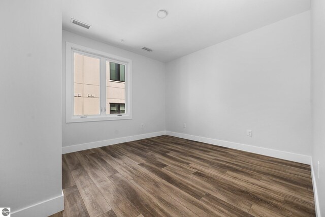
[[[25,207],[23,209],[13,211],[13,217],[44,217],[52,215],[64,209],[64,196],[63,191],[61,195],[51,198],[46,201]]]

